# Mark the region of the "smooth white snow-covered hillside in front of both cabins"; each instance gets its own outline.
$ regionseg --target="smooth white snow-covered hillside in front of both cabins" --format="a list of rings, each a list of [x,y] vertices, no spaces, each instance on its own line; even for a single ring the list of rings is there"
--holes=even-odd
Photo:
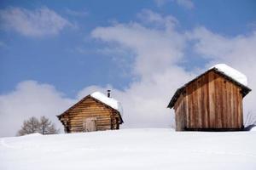
[[[0,169],[256,169],[256,132],[123,129],[0,139]]]

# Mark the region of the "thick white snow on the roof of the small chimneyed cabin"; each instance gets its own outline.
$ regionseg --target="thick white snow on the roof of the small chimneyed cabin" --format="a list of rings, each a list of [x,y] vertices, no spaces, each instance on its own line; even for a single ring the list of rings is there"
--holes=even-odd
[[[114,110],[119,111],[119,113],[122,115],[123,114],[123,108],[121,103],[113,98],[108,98],[108,96],[106,96],[105,94],[102,94],[101,92],[94,92],[92,94],[90,94],[90,97],[93,97],[99,101],[101,101],[102,103],[112,107]]]

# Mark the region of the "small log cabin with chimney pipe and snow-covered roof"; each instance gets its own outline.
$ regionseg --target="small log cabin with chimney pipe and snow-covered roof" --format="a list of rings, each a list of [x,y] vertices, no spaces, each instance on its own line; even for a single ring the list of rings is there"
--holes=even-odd
[[[108,90],[108,97],[100,92],[87,95],[57,117],[65,133],[79,133],[119,129],[121,114],[122,106]]]

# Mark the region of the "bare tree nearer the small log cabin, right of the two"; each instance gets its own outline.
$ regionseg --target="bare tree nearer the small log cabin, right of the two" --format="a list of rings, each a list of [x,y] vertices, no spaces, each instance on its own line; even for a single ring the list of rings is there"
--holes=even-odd
[[[49,121],[49,118],[41,116],[40,118],[40,133],[41,134],[55,134],[59,133],[59,129],[55,128],[55,124]]]

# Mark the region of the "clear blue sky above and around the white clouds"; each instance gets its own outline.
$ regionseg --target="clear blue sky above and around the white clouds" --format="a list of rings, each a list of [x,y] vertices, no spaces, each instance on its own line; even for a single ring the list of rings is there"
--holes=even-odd
[[[148,8],[160,14],[172,14],[179,20],[179,31],[206,26],[224,36],[246,34],[255,28],[254,1],[193,2],[194,8],[184,8],[174,2],[158,6],[154,1],[3,1],[4,10],[10,7],[35,10],[46,7],[54,10],[78,28],[64,28],[53,37],[26,37],[13,31],[1,31],[1,94],[8,93],[23,80],[54,84],[68,96],[92,84],[112,84],[124,88],[131,77],[124,76],[113,59],[96,53],[104,44],[90,37],[97,26],[108,26],[114,20],[123,23],[137,20],[137,14]],[[80,12],[80,16],[68,14]],[[83,15],[84,14],[84,15]],[[255,25],[255,23],[254,23]],[[76,51],[83,48],[84,53]],[[195,59],[196,63],[201,59]],[[185,65],[189,67],[189,65]],[[121,71],[120,71],[121,70]]]

